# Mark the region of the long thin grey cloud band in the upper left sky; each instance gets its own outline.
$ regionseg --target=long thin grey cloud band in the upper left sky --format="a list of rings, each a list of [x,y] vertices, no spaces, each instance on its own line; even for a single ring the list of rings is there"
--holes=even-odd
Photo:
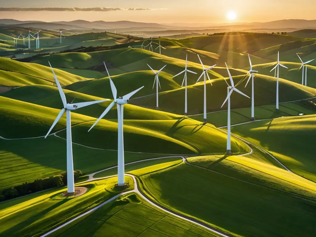
[[[148,8],[111,8],[111,7],[95,7],[95,8],[0,8],[0,11],[143,11],[151,10]]]

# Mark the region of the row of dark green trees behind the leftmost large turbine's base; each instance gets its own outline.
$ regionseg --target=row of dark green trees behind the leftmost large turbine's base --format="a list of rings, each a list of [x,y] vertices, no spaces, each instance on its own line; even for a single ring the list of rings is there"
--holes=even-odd
[[[80,170],[74,171],[75,181],[82,176]],[[42,191],[49,188],[62,187],[67,185],[67,173],[58,174],[52,177],[35,179],[33,183],[22,183],[13,188],[4,189],[0,193],[0,201],[9,200],[15,197],[24,196],[33,192]]]

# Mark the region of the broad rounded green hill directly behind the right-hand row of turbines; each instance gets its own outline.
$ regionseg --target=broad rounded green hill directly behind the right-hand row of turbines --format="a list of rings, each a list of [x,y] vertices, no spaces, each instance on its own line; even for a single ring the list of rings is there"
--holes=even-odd
[[[245,76],[235,76],[234,83],[237,88],[246,95],[251,96],[251,85],[245,88],[247,78]],[[255,105],[269,105],[276,101],[276,78],[255,74],[254,76]],[[225,110],[227,103],[221,109],[222,103],[227,96],[227,84],[223,79],[206,82],[207,112]],[[251,82],[250,82],[251,83]],[[204,83],[199,82],[188,87],[188,114],[203,113],[203,91]],[[315,89],[280,79],[279,81],[279,102],[292,100],[302,100],[314,97]],[[159,94],[159,107],[163,111],[183,114],[184,113],[185,89],[180,88],[172,91],[161,92]],[[149,95],[139,99],[132,99],[131,103],[138,106],[155,108],[155,95]],[[172,103],[170,103],[172,101]],[[251,106],[251,100],[238,93],[233,93],[231,97],[231,108],[242,108]]]

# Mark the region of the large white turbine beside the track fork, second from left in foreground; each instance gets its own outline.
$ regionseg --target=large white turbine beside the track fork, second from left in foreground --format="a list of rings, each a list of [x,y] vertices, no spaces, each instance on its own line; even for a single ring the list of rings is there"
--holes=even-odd
[[[105,63],[104,63],[104,65],[105,65]],[[105,68],[106,68],[106,65],[105,65]],[[118,185],[119,186],[123,186],[123,185],[125,185],[125,179],[124,179],[124,173],[125,172],[124,172],[123,109],[124,109],[124,105],[128,103],[128,100],[135,93],[137,93],[137,91],[142,89],[143,86],[141,88],[138,88],[137,90],[134,90],[131,93],[128,93],[128,94],[124,95],[123,97],[117,98],[117,90],[116,90],[116,87],[115,87],[114,83],[111,80],[111,77],[110,77],[109,72],[107,71],[107,68],[106,68],[106,72],[107,72],[107,75],[109,76],[109,79],[110,79],[110,85],[111,85],[111,90],[112,90],[112,95],[113,95],[113,99],[114,100],[106,108],[106,110],[101,114],[99,119],[97,121],[95,121],[94,125],[96,125],[100,121],[100,119],[102,119],[106,115],[106,113],[109,112],[110,109],[112,109],[112,107],[116,103],[116,107],[117,107],[117,110],[118,110]],[[89,129],[89,131],[94,127],[94,125],[92,125],[92,127]]]

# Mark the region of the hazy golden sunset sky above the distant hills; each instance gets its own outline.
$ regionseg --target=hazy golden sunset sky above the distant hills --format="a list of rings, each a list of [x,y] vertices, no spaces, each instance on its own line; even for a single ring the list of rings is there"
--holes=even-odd
[[[308,6],[308,7],[307,7]],[[115,8],[109,11],[0,11],[0,18],[21,21],[139,21],[155,23],[266,22],[315,20],[314,0],[0,0],[0,8]],[[130,9],[130,10],[128,10]],[[138,9],[138,10],[136,10]],[[142,9],[142,10],[139,10]],[[235,20],[227,13],[234,11]]]

